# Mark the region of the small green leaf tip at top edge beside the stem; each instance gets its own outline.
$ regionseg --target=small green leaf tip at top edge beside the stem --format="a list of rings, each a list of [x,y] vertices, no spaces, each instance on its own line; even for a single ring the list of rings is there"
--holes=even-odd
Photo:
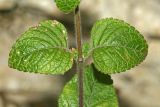
[[[56,0],[57,7],[64,13],[70,13],[79,5],[80,0]]]

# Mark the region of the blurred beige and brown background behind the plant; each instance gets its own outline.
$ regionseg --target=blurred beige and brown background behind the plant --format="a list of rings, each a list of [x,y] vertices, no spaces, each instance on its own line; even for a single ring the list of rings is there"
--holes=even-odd
[[[135,26],[147,39],[146,60],[112,75],[120,107],[160,107],[160,0],[82,0],[83,39],[97,19],[115,17]],[[57,107],[64,76],[18,72],[7,65],[15,40],[46,19],[61,21],[75,47],[73,14],[60,12],[53,0],[0,0],[0,107]]]

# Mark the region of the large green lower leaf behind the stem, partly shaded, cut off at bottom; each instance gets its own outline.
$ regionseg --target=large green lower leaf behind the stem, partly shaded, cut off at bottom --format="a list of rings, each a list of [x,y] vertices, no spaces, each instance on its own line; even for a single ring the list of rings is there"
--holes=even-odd
[[[59,98],[59,107],[78,107],[77,75],[67,83]],[[84,107],[118,107],[113,81],[109,75],[87,66],[84,72]]]

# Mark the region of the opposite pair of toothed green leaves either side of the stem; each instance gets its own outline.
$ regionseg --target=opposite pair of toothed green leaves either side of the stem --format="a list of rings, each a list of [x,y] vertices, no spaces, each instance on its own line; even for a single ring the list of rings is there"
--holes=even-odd
[[[87,50],[90,47],[84,56],[91,55],[95,67],[104,74],[126,71],[142,62],[148,52],[146,41],[134,27],[113,18],[94,24]],[[67,46],[65,27],[49,20],[30,28],[16,41],[9,66],[26,72],[64,74],[74,58]]]

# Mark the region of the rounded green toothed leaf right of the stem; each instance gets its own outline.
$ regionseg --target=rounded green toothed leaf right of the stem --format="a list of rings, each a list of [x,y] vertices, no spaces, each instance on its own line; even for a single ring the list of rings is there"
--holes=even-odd
[[[140,64],[148,53],[144,37],[124,21],[107,18],[97,21],[91,31],[96,68],[112,74]]]

